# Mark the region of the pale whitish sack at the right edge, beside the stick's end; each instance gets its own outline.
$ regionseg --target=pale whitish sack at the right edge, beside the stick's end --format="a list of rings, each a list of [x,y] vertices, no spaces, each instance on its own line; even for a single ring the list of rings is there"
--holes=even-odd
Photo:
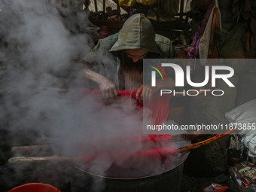
[[[248,148],[248,155],[256,157],[256,99],[239,105],[225,114],[230,123],[237,123],[236,131]]]

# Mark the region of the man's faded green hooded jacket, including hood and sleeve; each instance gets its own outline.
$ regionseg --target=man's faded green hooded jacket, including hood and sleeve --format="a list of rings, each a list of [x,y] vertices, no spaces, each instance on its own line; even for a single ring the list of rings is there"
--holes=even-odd
[[[169,38],[157,35],[144,14],[134,14],[123,24],[119,33],[100,39],[93,50],[80,62],[87,69],[98,72],[120,88],[123,50],[147,50],[145,58],[175,58],[175,48]]]

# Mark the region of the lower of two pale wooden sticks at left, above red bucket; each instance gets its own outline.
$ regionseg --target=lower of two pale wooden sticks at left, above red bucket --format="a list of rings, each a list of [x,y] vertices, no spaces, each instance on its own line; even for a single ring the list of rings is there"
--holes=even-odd
[[[8,163],[72,163],[81,162],[81,157],[61,157],[61,156],[49,156],[49,157],[11,157]]]

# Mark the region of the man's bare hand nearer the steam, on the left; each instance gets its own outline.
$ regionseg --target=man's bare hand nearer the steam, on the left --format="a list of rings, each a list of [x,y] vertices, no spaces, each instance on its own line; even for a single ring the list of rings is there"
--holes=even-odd
[[[119,94],[117,87],[111,81],[104,77],[102,77],[102,79],[99,81],[99,90],[102,91],[102,96],[107,101],[109,99],[117,99]]]

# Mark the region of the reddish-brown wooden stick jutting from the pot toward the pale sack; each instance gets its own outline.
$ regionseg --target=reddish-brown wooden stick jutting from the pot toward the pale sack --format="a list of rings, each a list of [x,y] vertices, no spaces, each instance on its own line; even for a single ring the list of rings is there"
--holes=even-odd
[[[214,137],[212,137],[210,139],[206,139],[203,142],[197,142],[197,143],[193,143],[193,144],[187,145],[187,146],[185,146],[183,148],[178,148],[178,152],[182,153],[184,151],[190,151],[192,149],[196,149],[196,148],[200,148],[200,147],[202,147],[204,145],[208,145],[208,144],[210,144],[212,142],[217,141],[218,139],[221,139],[221,138],[223,138],[225,136],[229,136],[231,133],[233,133],[233,131],[235,131],[235,129],[227,130],[225,133],[218,134],[217,136],[214,136]]]

